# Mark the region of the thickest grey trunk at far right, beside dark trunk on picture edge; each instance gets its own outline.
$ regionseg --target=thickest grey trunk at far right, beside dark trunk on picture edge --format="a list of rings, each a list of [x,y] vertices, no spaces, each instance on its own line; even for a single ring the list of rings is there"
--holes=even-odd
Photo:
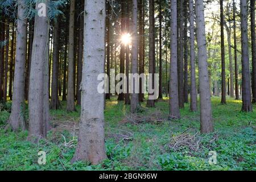
[[[253,111],[251,105],[250,65],[247,28],[247,1],[241,0],[241,42],[242,42],[242,111]]]

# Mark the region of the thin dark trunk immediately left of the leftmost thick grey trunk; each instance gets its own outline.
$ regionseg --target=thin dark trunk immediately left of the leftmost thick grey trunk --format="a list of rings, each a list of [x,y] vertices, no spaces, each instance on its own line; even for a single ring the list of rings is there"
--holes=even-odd
[[[14,36],[15,36],[15,24],[11,30],[11,60],[10,60],[10,73],[9,73],[9,98],[13,100],[13,65],[14,65]]]

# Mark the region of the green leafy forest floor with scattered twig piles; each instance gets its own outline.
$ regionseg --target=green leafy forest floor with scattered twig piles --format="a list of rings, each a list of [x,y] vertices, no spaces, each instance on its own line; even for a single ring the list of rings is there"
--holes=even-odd
[[[61,102],[63,109],[51,110],[53,129],[47,139],[33,144],[26,140],[27,131],[4,130],[11,104],[2,105],[0,170],[256,170],[256,110],[241,113],[241,101],[228,98],[227,105],[220,105],[220,98],[212,97],[215,131],[200,135],[200,112],[191,113],[189,104],[181,110],[181,119],[168,121],[167,98],[155,108],[142,104],[144,109],[137,115],[115,100],[107,101],[105,110],[108,159],[97,166],[70,163],[80,107],[67,113]],[[38,164],[39,151],[46,152],[46,165]],[[212,154],[217,161],[210,165]]]

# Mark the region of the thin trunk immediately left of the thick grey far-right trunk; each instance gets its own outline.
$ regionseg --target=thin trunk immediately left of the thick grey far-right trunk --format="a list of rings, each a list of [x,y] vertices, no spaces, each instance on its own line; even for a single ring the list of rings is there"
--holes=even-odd
[[[237,31],[236,31],[236,2],[233,0],[233,30],[234,30],[234,60],[235,60],[235,93],[239,100],[238,64],[237,64]]]

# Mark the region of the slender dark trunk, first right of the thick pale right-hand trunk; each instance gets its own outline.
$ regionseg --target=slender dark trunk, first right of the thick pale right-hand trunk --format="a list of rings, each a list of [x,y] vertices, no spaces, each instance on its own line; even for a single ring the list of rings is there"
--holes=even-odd
[[[226,71],[225,71],[225,44],[224,44],[224,10],[223,0],[220,0],[221,19],[221,104],[226,104]]]

